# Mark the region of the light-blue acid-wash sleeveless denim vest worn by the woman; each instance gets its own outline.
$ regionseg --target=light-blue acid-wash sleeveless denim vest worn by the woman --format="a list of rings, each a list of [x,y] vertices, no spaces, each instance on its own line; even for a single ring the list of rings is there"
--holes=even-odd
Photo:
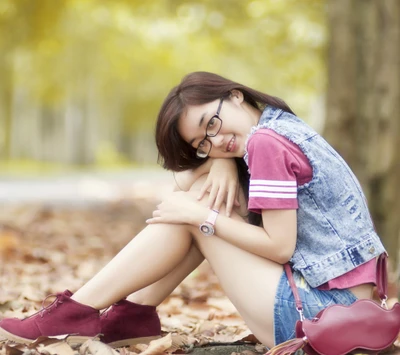
[[[296,144],[313,170],[311,181],[297,188],[297,242],[291,258],[310,286],[383,253],[361,186],[342,157],[311,127],[281,109],[267,106],[249,137],[260,128]],[[248,164],[247,150],[244,159]]]

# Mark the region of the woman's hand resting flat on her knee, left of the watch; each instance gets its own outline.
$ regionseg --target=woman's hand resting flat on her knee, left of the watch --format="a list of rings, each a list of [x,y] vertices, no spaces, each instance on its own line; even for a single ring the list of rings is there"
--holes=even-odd
[[[199,225],[207,219],[209,209],[196,201],[190,192],[176,191],[157,205],[153,217],[146,223]]]

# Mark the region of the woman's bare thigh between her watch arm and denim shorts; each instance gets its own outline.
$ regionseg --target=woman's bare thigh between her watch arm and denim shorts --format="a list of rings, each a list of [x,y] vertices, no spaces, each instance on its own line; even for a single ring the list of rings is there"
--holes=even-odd
[[[192,189],[198,186],[194,184]],[[224,213],[224,208],[220,212]],[[237,213],[232,218],[241,219]],[[204,238],[195,227],[191,227],[191,233],[251,331],[263,344],[273,346],[274,303],[282,265],[244,251],[218,236]]]

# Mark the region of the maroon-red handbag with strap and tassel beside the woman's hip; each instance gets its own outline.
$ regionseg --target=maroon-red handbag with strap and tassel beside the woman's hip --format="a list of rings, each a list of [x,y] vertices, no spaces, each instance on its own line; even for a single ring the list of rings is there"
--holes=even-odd
[[[289,264],[285,264],[300,320],[296,338],[279,344],[265,355],[290,355],[303,349],[308,355],[378,354],[390,347],[400,332],[400,303],[387,309],[387,254],[378,258],[376,274],[381,305],[357,300],[350,306],[333,305],[313,319],[304,319],[303,306]]]

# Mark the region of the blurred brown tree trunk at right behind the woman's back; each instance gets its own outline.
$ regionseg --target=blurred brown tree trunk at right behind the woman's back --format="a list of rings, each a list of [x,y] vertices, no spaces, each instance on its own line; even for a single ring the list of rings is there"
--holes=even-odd
[[[324,135],[360,179],[393,268],[400,246],[400,1],[328,3]]]

